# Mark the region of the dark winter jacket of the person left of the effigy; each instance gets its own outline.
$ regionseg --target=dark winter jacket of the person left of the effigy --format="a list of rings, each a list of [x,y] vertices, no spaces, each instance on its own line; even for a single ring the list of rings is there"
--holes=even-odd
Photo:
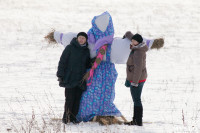
[[[77,38],[73,38],[63,51],[58,64],[57,77],[61,78],[60,86],[74,88],[76,86],[86,89],[86,83],[81,83],[86,70],[91,66],[88,43],[80,46]]]

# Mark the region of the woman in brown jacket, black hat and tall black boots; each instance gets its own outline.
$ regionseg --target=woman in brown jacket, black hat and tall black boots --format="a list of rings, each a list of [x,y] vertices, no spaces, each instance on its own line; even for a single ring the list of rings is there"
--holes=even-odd
[[[147,79],[146,70],[146,52],[147,45],[143,42],[143,38],[139,34],[135,34],[131,40],[131,52],[127,60],[127,78],[125,85],[130,87],[131,96],[134,103],[133,120],[127,122],[127,125],[142,126],[143,106],[141,102],[141,94],[143,85]]]

